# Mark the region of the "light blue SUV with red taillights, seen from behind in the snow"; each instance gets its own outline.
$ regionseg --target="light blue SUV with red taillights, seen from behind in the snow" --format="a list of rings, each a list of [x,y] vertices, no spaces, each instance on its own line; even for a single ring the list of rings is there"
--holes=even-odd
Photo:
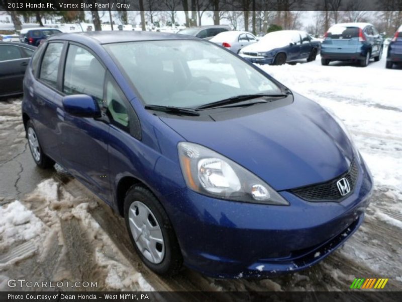
[[[321,44],[321,63],[331,61],[358,61],[361,66],[370,59],[379,61],[383,50],[383,38],[372,24],[339,23],[324,35]]]

